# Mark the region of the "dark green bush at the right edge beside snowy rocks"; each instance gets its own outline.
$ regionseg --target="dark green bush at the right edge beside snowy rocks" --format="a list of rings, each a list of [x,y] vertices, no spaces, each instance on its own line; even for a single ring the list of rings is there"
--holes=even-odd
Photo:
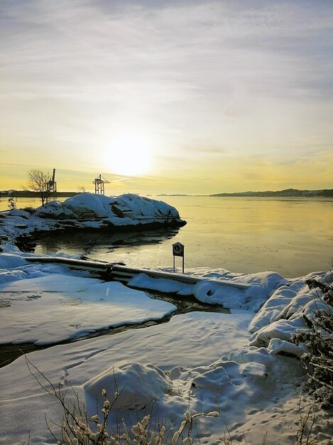
[[[309,380],[307,389],[323,408],[333,406],[333,284],[308,279],[307,286],[315,291],[315,311],[307,323],[310,331],[294,336],[295,343],[305,343],[307,352],[301,360],[305,363]]]

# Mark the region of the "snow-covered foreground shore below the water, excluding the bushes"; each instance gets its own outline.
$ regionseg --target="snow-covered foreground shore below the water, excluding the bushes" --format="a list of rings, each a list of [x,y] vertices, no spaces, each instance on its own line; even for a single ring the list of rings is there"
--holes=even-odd
[[[18,254],[1,254],[0,267],[2,343],[56,341],[105,323],[140,321],[174,309],[148,301],[144,292],[77,276],[65,267],[27,264]],[[191,290],[202,301],[231,307],[231,314],[174,316],[150,328],[54,345],[29,354],[29,360],[62,390],[72,385],[89,414],[95,414],[104,387],[114,394],[116,377],[119,387],[125,386],[114,418],[134,420],[155,400],[153,414],[178,427],[190,404],[192,413],[220,412],[219,417],[200,418],[202,444],[222,443],[225,425],[234,443],[244,442],[245,432],[249,444],[261,444],[267,431],[267,444],[294,444],[305,375],[297,360],[302,348],[290,336],[307,329],[306,319],[312,317],[306,277],[285,280],[273,272],[246,275],[223,269],[188,272],[205,279],[192,289],[180,289],[172,281],[151,282],[145,275],[138,280],[160,290],[174,286],[180,298]],[[309,277],[332,281],[325,272]],[[221,279],[241,280],[249,287],[228,294]],[[131,304],[125,307],[126,301]],[[79,321],[82,328],[75,327]],[[23,444],[29,431],[30,444],[54,443],[44,417],[59,423],[61,411],[30,375],[23,357],[1,368],[0,385],[0,444]],[[329,421],[320,412],[315,432],[321,444],[332,443]],[[53,430],[59,433],[55,425]]]

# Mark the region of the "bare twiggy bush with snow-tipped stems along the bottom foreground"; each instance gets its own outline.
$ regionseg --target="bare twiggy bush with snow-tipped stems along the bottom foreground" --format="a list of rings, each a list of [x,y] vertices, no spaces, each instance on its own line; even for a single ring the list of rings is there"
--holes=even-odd
[[[72,392],[68,392],[62,385],[55,387],[43,372],[31,363],[25,356],[26,364],[31,375],[36,379],[38,385],[49,395],[55,397],[62,408],[62,420],[60,423],[50,421],[45,416],[45,422],[57,445],[193,445],[201,444],[200,432],[198,431],[196,420],[199,417],[219,417],[220,406],[217,403],[219,412],[190,412],[190,400],[183,417],[178,422],[169,422],[163,418],[160,422],[158,413],[153,414],[154,402],[149,408],[138,409],[136,411],[136,421],[131,423],[130,416],[124,414],[122,410],[116,409],[117,400],[122,397],[126,385],[120,388],[114,375],[114,394],[108,397],[107,390],[102,389],[102,398],[97,403],[97,414],[89,415],[88,409],[82,404],[74,387]],[[98,400],[98,397],[97,397]],[[99,409],[99,406],[102,408]],[[145,407],[146,408],[146,407]],[[141,414],[142,413],[142,414]],[[119,419],[119,414],[122,418]],[[126,417],[127,420],[124,419]],[[55,431],[57,427],[57,431]],[[225,426],[226,427],[226,426]],[[244,442],[234,439],[231,432],[226,427],[226,431],[221,435],[224,445],[248,444],[243,433]],[[261,445],[266,444],[267,431],[263,434]],[[303,444],[300,444],[303,445]]]

